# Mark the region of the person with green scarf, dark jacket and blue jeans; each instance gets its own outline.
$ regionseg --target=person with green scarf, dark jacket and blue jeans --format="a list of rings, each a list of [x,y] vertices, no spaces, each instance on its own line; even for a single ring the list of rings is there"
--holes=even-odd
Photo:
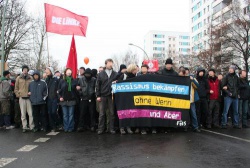
[[[76,86],[77,81],[72,77],[72,70],[67,68],[57,91],[63,111],[64,132],[73,132],[74,130],[74,113],[77,100]]]

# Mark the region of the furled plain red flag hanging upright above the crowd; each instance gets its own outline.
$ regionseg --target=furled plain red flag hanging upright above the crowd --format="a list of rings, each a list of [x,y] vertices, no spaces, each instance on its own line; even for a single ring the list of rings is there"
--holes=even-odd
[[[77,77],[77,53],[74,35],[72,36],[66,68],[70,68],[72,70],[73,78]]]

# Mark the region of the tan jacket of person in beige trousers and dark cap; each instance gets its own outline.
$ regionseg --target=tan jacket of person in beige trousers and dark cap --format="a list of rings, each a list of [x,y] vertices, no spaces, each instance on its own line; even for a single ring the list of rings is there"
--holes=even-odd
[[[32,77],[27,74],[24,76],[23,73],[16,78],[15,83],[15,94],[17,97],[28,98],[29,84],[32,82]]]

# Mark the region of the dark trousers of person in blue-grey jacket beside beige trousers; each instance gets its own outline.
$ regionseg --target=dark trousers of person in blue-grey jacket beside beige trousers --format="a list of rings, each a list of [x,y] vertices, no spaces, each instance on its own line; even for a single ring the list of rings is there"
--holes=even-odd
[[[32,105],[32,111],[33,111],[33,120],[35,128],[36,129],[43,128],[44,130],[47,130],[48,122],[46,116],[46,105],[45,104]]]

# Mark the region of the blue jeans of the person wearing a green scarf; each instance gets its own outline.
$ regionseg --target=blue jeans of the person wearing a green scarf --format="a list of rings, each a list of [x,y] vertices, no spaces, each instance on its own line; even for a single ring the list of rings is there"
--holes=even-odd
[[[75,106],[62,106],[63,111],[63,125],[64,131],[73,131],[74,130],[74,112]]]

